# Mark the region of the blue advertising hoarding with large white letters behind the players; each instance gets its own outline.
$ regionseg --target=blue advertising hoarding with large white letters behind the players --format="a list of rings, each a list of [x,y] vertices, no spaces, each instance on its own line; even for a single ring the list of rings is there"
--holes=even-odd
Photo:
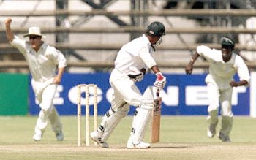
[[[160,92],[162,96],[162,115],[207,115],[208,95],[204,79],[206,74],[200,75],[174,75],[165,74],[167,84]],[[110,107],[112,89],[108,83],[109,73],[70,74],[65,73],[61,84],[58,86],[56,97],[53,99],[60,115],[77,114],[77,85],[96,84],[98,92],[98,114],[104,115]],[[155,75],[147,74],[144,80],[138,84],[141,93],[148,85],[152,85]],[[237,78],[237,77],[236,77]],[[92,98],[90,93],[90,97]],[[82,104],[85,104],[85,94],[82,92]],[[93,113],[93,101],[90,101]],[[234,88],[233,113],[235,115],[249,115],[249,88],[244,86]],[[134,113],[135,107],[131,107],[129,115]],[[34,97],[34,92],[29,88],[29,113],[37,115],[39,106]],[[84,113],[84,110],[83,110]]]

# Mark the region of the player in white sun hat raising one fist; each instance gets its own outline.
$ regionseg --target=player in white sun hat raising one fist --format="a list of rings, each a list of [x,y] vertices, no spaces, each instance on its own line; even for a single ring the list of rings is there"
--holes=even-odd
[[[29,41],[25,41],[13,36],[10,28],[11,23],[11,18],[5,20],[7,39],[13,47],[16,47],[23,54],[29,64],[32,75],[31,85],[41,108],[34,129],[33,140],[42,140],[42,134],[48,120],[57,140],[63,140],[62,124],[59,113],[53,105],[53,97],[56,94],[57,85],[61,82],[64,67],[67,65],[66,58],[55,47],[42,41],[44,36],[39,27],[30,27],[29,33],[24,35],[24,37],[29,37]],[[56,66],[59,69],[58,74],[56,74]]]

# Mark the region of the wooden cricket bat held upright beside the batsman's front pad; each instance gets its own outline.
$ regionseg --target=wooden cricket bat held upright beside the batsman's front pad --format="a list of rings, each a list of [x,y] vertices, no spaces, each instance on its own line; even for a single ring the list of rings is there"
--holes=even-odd
[[[154,107],[152,111],[151,121],[151,142],[159,142],[160,140],[160,120],[161,120],[162,98],[159,97],[159,89],[157,89],[157,99],[154,99]]]

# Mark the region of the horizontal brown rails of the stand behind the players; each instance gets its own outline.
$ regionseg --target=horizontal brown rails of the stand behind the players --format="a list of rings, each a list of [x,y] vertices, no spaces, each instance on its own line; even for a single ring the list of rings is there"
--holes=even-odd
[[[102,9],[94,9],[92,11],[84,10],[57,10],[57,11],[35,11],[35,12],[26,12],[26,11],[0,11],[1,17],[44,17],[44,16],[56,16],[56,15],[65,15],[65,16],[75,16],[75,15],[113,15],[113,16],[161,16],[161,17],[170,17],[170,16],[186,16],[194,18],[202,18],[204,16],[223,16],[223,17],[252,17],[256,15],[255,9],[162,9],[158,11],[106,11]],[[12,28],[15,33],[24,34],[27,31],[27,28]],[[55,34],[55,33],[141,33],[144,31],[144,28],[138,26],[123,26],[118,28],[70,28],[66,27],[53,27],[53,28],[42,28],[42,32],[46,34]],[[0,34],[3,34],[4,28],[0,28]],[[238,28],[238,27],[197,27],[197,28],[166,28],[167,34],[255,34],[256,29],[247,29],[247,28]],[[69,44],[69,43],[56,43],[50,44],[57,47],[60,50],[118,50],[121,45],[110,44],[110,45],[99,45],[99,44]],[[163,45],[159,47],[159,50],[195,50],[197,45],[208,45],[209,47],[219,48],[219,44],[187,44],[187,45]],[[13,48],[8,43],[0,44],[1,53],[4,50],[13,51]],[[256,46],[249,47],[246,45],[236,44],[236,50],[244,51],[255,51]],[[256,64],[251,62],[246,62],[250,68],[255,68]],[[184,67],[184,63],[168,63],[168,62],[158,62],[159,66],[162,67]],[[88,66],[88,67],[112,67],[113,62],[90,62],[90,61],[76,61],[69,62],[68,66]],[[204,62],[198,62],[195,64],[195,67],[205,68],[208,64]],[[7,67],[27,67],[25,61],[1,61],[1,68]]]

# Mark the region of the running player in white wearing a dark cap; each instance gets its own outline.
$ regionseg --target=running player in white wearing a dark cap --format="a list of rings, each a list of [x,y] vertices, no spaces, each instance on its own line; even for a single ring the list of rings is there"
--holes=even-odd
[[[233,126],[233,112],[231,106],[233,87],[249,85],[249,70],[241,56],[233,53],[235,43],[232,39],[222,37],[221,50],[210,49],[204,45],[198,46],[186,66],[186,73],[191,74],[193,64],[199,56],[206,58],[209,63],[209,73],[206,76],[208,88],[208,137],[214,137],[218,123],[219,104],[222,107],[222,123],[219,131],[219,139],[222,142],[230,142],[230,132]],[[240,80],[233,80],[238,73]]]

